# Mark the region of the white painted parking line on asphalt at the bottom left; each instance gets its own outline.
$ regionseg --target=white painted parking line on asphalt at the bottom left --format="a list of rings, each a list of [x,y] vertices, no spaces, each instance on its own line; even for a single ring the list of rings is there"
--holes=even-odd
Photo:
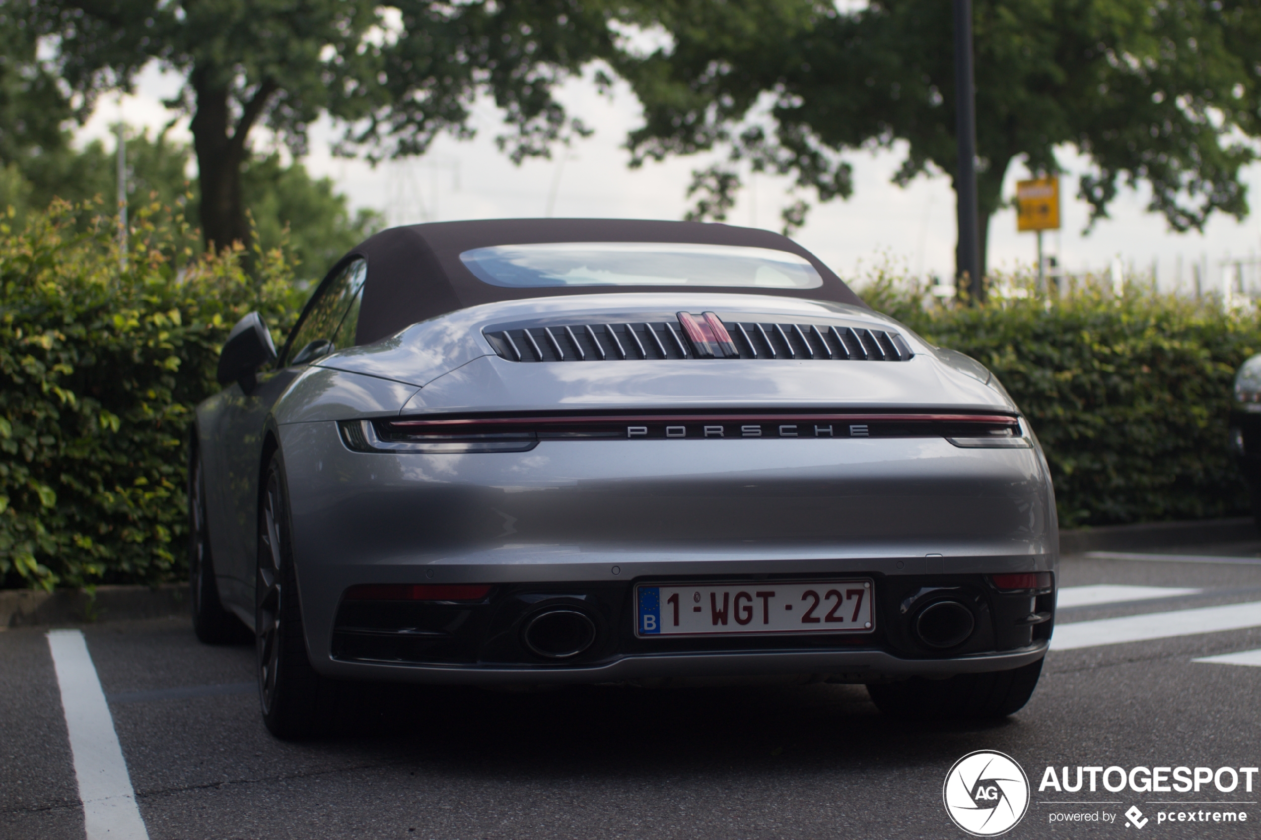
[[[62,691],[87,840],[149,840],[83,633],[53,630],[48,649]]]

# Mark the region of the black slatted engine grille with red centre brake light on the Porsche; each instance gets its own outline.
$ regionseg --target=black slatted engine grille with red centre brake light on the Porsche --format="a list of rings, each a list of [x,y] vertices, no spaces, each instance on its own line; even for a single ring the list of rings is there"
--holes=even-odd
[[[709,358],[907,361],[914,355],[900,335],[886,330],[724,322],[712,312],[680,312],[677,321],[507,327],[487,330],[484,335],[494,351],[509,361]]]

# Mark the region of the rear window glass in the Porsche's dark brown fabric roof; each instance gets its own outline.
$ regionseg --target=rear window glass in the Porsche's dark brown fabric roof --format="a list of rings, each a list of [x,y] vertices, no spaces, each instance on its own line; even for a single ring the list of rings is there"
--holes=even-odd
[[[492,286],[726,286],[818,288],[803,257],[772,248],[658,242],[547,242],[491,246],[460,254]]]

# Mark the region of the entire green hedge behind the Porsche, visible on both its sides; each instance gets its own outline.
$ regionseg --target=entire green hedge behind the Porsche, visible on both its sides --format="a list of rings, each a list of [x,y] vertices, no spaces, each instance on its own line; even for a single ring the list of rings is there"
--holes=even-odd
[[[0,586],[187,573],[192,408],[241,315],[281,335],[305,297],[281,252],[194,257],[192,233],[145,208],[120,267],[93,207],[0,224]],[[1131,292],[942,307],[888,276],[865,290],[999,375],[1047,451],[1062,526],[1247,513],[1226,422],[1256,317]]]

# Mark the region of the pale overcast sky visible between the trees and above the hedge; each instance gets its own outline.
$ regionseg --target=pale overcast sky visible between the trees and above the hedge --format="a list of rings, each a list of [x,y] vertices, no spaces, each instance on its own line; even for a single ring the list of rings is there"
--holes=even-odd
[[[151,68],[139,79],[136,93],[122,101],[129,125],[154,130],[174,116],[161,106],[179,87],[179,78]],[[612,99],[596,94],[593,86],[575,79],[561,91],[570,113],[581,116],[595,135],[578,142],[569,152],[560,149],[552,160],[527,161],[513,166],[494,146],[498,117],[489,103],[477,108],[477,139],[456,142],[441,139],[424,157],[381,164],[372,169],[362,161],[333,157],[329,141],[335,131],[325,122],[311,131],[310,155],[305,164],[315,175],[329,176],[353,207],[368,207],[386,214],[391,224],[504,217],[605,217],[678,219],[687,209],[685,193],[691,170],[710,159],[675,159],[666,164],[627,167],[629,155],[622,149],[627,132],[639,123],[639,108],[624,87]],[[81,139],[101,137],[119,118],[115,97],[103,97]],[[187,120],[173,128],[188,139]],[[262,132],[255,147],[266,147]],[[818,254],[845,277],[885,256],[915,275],[950,276],[953,271],[955,194],[944,175],[919,178],[909,188],[890,183],[903,157],[902,150],[852,152],[854,195],[817,205],[796,239]],[[1173,288],[1180,275],[1182,287],[1193,283],[1192,263],[1207,266],[1206,287],[1221,282],[1226,258],[1247,259],[1261,251],[1261,214],[1242,223],[1214,217],[1206,233],[1171,233],[1160,215],[1145,212],[1148,195],[1122,190],[1111,208],[1112,218],[1098,223],[1088,236],[1082,229],[1088,207],[1076,198],[1076,176],[1083,161],[1071,149],[1062,150],[1063,228],[1045,234],[1048,253],[1058,254],[1071,271],[1105,271],[1117,257],[1126,267],[1150,271],[1155,261],[1163,288]],[[1015,181],[1026,178],[1016,162],[1008,173],[1004,195],[1015,193]],[[1261,166],[1246,173],[1253,207],[1261,208]],[[729,217],[733,224],[779,228],[779,209],[787,201],[787,181],[757,176],[747,186]],[[1033,264],[1035,238],[1016,233],[1015,210],[995,214],[990,223],[991,268]],[[1180,262],[1180,271],[1179,271]],[[1248,283],[1261,277],[1247,275]]]

